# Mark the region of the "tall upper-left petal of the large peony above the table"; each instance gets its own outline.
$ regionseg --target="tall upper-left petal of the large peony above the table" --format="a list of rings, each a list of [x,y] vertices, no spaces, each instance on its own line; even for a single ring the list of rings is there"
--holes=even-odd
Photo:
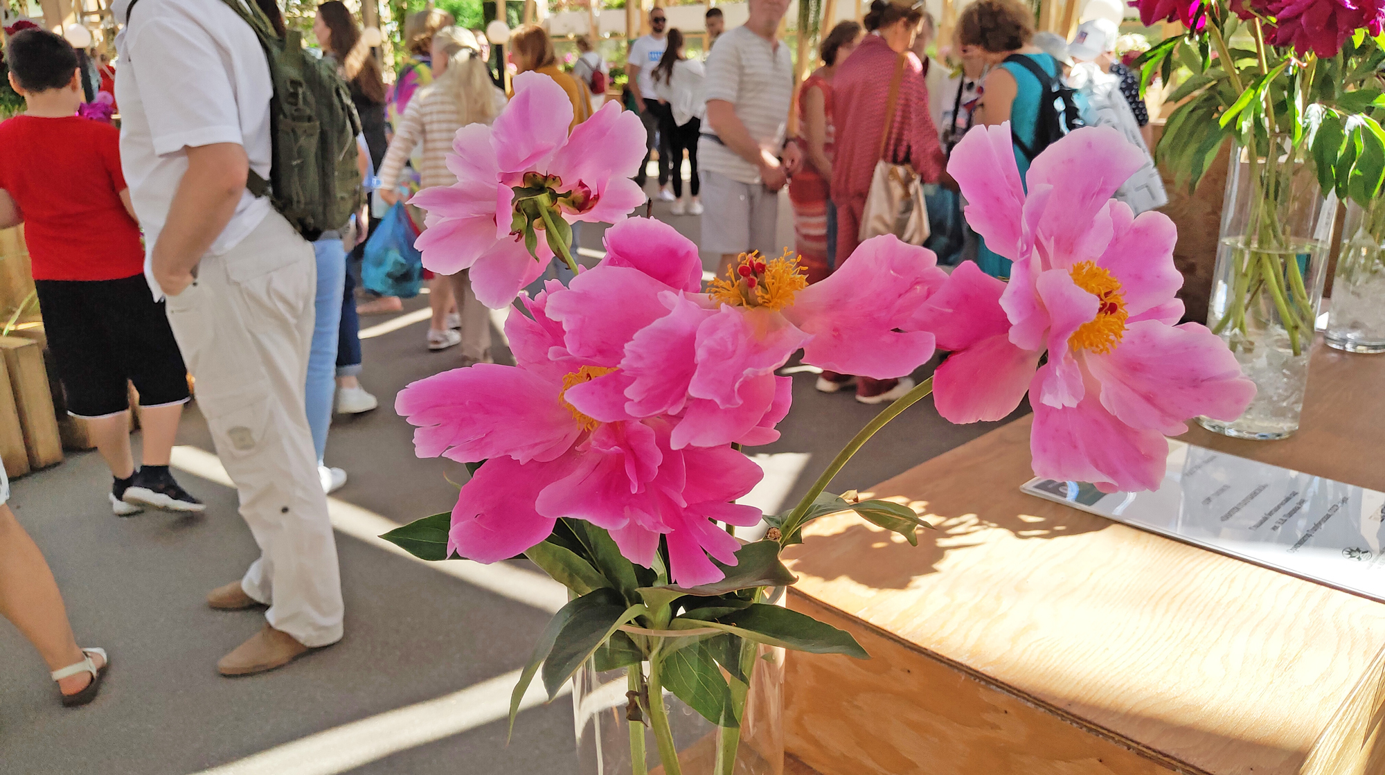
[[[967,223],[1001,256],[1019,257],[1019,213],[1025,190],[1015,166],[1010,122],[975,126],[953,148],[947,173],[967,199]]]

